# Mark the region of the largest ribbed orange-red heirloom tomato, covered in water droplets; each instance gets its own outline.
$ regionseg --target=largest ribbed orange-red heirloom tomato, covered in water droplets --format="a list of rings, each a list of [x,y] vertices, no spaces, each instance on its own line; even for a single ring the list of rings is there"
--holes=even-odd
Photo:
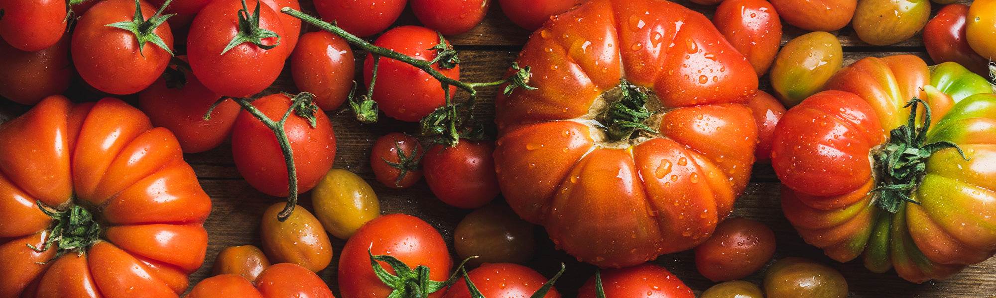
[[[502,193],[568,253],[634,265],[705,240],[750,178],[754,69],[701,14],[595,0],[548,21],[497,99]]]

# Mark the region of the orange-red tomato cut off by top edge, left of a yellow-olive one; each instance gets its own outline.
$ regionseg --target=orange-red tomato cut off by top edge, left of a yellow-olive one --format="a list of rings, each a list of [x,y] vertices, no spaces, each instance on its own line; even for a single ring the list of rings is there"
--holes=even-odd
[[[855,15],[858,0],[772,0],[785,23],[806,31],[837,31]]]

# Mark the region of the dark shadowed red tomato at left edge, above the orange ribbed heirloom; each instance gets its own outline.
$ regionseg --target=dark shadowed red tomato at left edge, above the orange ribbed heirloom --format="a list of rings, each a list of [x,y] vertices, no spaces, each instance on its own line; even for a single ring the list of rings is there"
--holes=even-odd
[[[69,38],[48,49],[23,52],[0,41],[0,96],[21,104],[35,104],[69,88],[73,66]]]

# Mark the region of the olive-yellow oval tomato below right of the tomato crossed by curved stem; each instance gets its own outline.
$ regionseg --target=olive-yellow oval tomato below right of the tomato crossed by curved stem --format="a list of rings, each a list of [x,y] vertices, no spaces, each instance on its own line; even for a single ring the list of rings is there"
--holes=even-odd
[[[380,203],[371,185],[353,172],[332,169],[312,189],[315,215],[332,235],[346,239],[361,225],[380,216]]]

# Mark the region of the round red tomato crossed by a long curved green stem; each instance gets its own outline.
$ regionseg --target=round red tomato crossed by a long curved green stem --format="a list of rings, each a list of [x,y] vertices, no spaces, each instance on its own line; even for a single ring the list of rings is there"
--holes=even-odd
[[[270,119],[279,121],[291,106],[291,98],[282,93],[270,94],[252,104]],[[316,112],[315,120],[313,128],[307,119],[292,114],[284,126],[294,151],[298,194],[314,188],[336,161],[336,133],[332,122],[323,112]],[[232,157],[239,174],[253,188],[270,196],[287,197],[287,164],[277,137],[245,110],[235,118],[232,128]]]

